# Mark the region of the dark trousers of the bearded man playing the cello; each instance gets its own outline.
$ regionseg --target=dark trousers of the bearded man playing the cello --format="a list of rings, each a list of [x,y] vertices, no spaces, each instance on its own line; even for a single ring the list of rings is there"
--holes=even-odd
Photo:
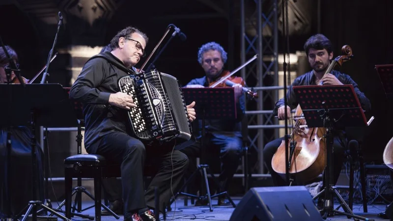
[[[281,145],[281,141],[284,140],[284,138],[278,138],[273,141],[270,141],[265,145],[263,148],[263,160],[265,161],[266,167],[268,168],[272,179],[273,179],[273,184],[275,186],[286,186],[286,182],[281,178],[281,176],[276,173],[273,168],[272,168],[272,158],[273,155],[276,153],[277,149]],[[345,150],[345,145],[346,145],[346,140],[343,140],[343,144],[341,140],[338,137],[334,137],[334,142],[333,142],[333,182],[334,184],[337,183],[338,177],[340,175],[341,167],[342,167],[342,162],[344,160],[344,150]],[[284,164],[284,162],[283,162]],[[296,182],[296,181],[295,181]],[[322,188],[325,187],[325,175],[323,175],[323,186]]]

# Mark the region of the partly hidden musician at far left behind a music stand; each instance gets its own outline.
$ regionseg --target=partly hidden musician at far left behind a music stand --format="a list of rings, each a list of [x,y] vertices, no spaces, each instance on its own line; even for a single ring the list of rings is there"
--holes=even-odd
[[[5,46],[11,59],[18,64],[18,55],[9,46]],[[3,48],[0,46],[0,83],[7,83],[7,75],[5,68],[9,66],[9,59],[6,56]],[[15,73],[11,72],[11,81],[17,79]],[[2,94],[2,99],[8,99],[7,94]],[[15,101],[19,102],[19,101]],[[7,108],[4,105],[1,108]],[[37,128],[38,129],[38,128]],[[36,130],[38,131],[38,130]],[[7,133],[11,133],[11,162],[7,164]],[[28,205],[32,199],[31,186],[31,130],[25,126],[4,128],[0,125],[0,216],[7,214],[5,206],[11,207],[9,215],[16,216]],[[37,136],[37,135],[36,135]],[[36,143],[36,162],[37,162],[37,196],[38,200],[44,200],[44,174],[43,174],[43,152],[39,143]],[[7,166],[10,166],[10,174],[6,175]],[[25,171],[24,175],[20,175],[20,171]],[[6,195],[4,194],[5,184],[7,179],[12,184],[9,187],[8,193],[11,196],[11,202],[7,202]],[[5,204],[6,203],[6,204]]]

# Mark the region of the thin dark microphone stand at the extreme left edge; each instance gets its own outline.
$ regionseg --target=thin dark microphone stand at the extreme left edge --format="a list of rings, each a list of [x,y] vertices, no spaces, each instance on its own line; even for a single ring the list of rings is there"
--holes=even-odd
[[[11,103],[11,101],[12,101],[12,94],[11,94],[12,90],[11,90],[11,87],[10,87],[11,81],[12,81],[11,80],[11,73],[14,72],[15,76],[18,78],[19,82],[22,84],[23,87],[25,87],[25,83],[23,82],[23,79],[22,79],[21,74],[20,74],[21,70],[16,67],[16,64],[15,64],[14,60],[8,54],[8,51],[5,48],[5,45],[4,45],[1,37],[0,37],[0,43],[1,43],[2,49],[4,50],[4,54],[8,58],[8,63],[9,63],[8,67],[5,68],[4,70],[5,70],[5,73],[7,75],[8,100],[9,100],[9,103]],[[6,108],[8,109],[7,112],[9,112],[10,111],[10,107],[8,106]],[[7,133],[7,138],[6,138],[7,139],[7,143],[6,143],[6,158],[7,159],[6,159],[6,162],[7,163],[6,163],[5,167],[7,169],[5,171],[5,174],[6,174],[5,175],[5,178],[6,178],[5,195],[6,195],[7,201],[6,201],[5,204],[7,205],[6,206],[7,219],[11,219],[11,217],[12,217],[12,215],[11,215],[12,214],[12,212],[11,212],[11,193],[10,193],[9,187],[11,186],[10,185],[10,167],[11,167],[10,166],[10,162],[11,162],[11,150],[12,150],[12,147],[11,147],[12,132],[11,132],[11,126],[10,126],[9,122],[7,122],[6,133]],[[0,209],[2,209],[2,208],[0,208]],[[1,219],[3,219],[3,218],[1,217]]]

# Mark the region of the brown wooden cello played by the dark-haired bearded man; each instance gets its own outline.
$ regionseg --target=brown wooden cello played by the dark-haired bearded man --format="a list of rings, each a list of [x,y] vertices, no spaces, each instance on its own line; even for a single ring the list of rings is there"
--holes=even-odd
[[[337,56],[328,68],[324,76],[330,73],[333,68],[338,65],[341,66],[343,62],[352,58],[352,49],[348,45],[341,48],[342,54]],[[321,81],[319,85],[322,85]],[[290,179],[296,178],[297,182],[307,182],[316,178],[323,172],[326,166],[325,158],[325,143],[323,136],[326,134],[325,128],[307,128],[307,122],[304,118],[303,111],[300,105],[297,106],[295,116],[296,121],[293,126],[292,133],[288,141],[288,172]],[[296,130],[304,128],[306,137],[302,137],[296,133]],[[289,160],[291,159],[291,160]],[[273,155],[272,167],[282,178],[285,177],[285,140],[282,140],[280,147]]]

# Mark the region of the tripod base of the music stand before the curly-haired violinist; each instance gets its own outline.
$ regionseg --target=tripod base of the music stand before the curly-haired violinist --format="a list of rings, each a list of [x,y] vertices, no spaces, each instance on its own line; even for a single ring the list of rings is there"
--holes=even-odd
[[[173,203],[173,201],[175,201],[176,197],[179,194],[182,195],[186,195],[186,196],[190,196],[192,198],[197,198],[198,200],[208,200],[209,202],[209,208],[210,208],[210,212],[213,212],[213,205],[212,205],[212,198],[220,196],[220,195],[224,195],[228,198],[229,202],[232,204],[233,208],[236,207],[235,203],[232,201],[231,197],[229,196],[228,192],[222,192],[222,193],[217,193],[214,195],[210,194],[210,188],[209,188],[209,182],[207,180],[207,170],[209,170],[209,165],[199,165],[198,168],[194,171],[194,173],[190,176],[190,178],[186,181],[186,183],[180,188],[180,190],[174,195],[173,199],[170,201],[170,204]],[[186,188],[188,186],[188,184],[191,183],[191,181],[193,181],[194,176],[198,173],[201,172],[203,179],[204,179],[204,184],[206,185],[206,195],[193,195],[190,193],[183,193],[182,191],[184,190],[184,188]],[[209,174],[212,176],[214,182],[216,183],[216,185],[220,188],[223,189],[220,185],[220,183],[218,182],[217,178],[214,176],[214,174],[212,172],[209,171]],[[218,202],[218,204],[220,205],[220,200]]]

